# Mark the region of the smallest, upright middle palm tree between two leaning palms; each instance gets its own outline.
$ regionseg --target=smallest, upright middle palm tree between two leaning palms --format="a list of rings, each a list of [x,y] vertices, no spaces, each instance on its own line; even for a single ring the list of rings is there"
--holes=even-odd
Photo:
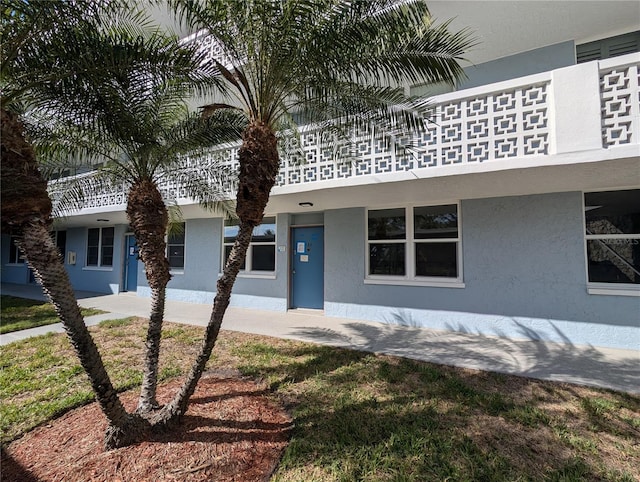
[[[194,57],[194,68],[200,59]],[[132,72],[135,75],[135,72]],[[138,412],[158,408],[156,388],[160,339],[167,283],[171,279],[165,235],[169,212],[164,181],[179,178],[181,191],[205,208],[232,215],[232,203],[224,201],[224,166],[215,161],[189,168],[186,155],[200,157],[204,151],[226,141],[237,140],[244,118],[236,112],[217,112],[203,118],[189,112],[185,99],[193,87],[190,78],[149,81],[144,93],[126,88],[106,89],[96,105],[81,118],[46,119],[40,112],[31,137],[41,163],[65,166],[71,158],[107,161],[91,177],[57,183],[62,197],[56,208],[69,212],[82,206],[84,198],[100,186],[127,186],[127,219],[151,289],[151,308],[146,337],[144,374]],[[68,165],[68,164],[67,164]],[[89,182],[86,182],[89,181]],[[66,185],[66,186],[65,186]],[[65,189],[66,188],[66,189]]]

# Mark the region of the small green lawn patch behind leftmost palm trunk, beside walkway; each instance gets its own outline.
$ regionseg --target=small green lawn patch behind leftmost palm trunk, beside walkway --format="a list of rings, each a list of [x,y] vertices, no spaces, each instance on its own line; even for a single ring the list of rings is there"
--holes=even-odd
[[[2,295],[0,303],[2,306],[0,333],[11,333],[12,331],[60,322],[53,306],[46,301]],[[104,313],[104,311],[93,308],[82,308],[81,311],[84,316]]]

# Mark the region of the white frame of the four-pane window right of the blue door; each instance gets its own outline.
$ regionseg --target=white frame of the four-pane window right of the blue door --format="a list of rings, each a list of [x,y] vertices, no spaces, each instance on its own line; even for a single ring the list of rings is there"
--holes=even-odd
[[[413,229],[413,210],[417,207],[431,207],[431,206],[446,206],[454,204],[456,206],[458,216],[458,236],[456,238],[439,238],[433,240],[416,240],[414,237]],[[405,245],[405,276],[385,276],[385,275],[370,275],[369,274],[369,211],[379,211],[381,209],[404,209],[405,213],[405,226],[406,226],[406,238],[391,239],[391,240],[376,240],[375,244],[384,242],[385,244],[398,243]],[[364,212],[364,251],[365,251],[365,266],[364,266],[364,284],[371,285],[397,285],[397,286],[427,286],[434,288],[464,288],[464,273],[462,269],[462,213],[460,209],[460,201],[452,202],[440,202],[434,203],[415,203],[415,204],[403,204],[394,206],[382,206],[382,207],[370,207],[366,208]],[[457,247],[457,268],[458,276],[456,278],[442,278],[442,277],[427,277],[415,275],[415,244],[418,243],[435,243],[435,242],[455,242]]]

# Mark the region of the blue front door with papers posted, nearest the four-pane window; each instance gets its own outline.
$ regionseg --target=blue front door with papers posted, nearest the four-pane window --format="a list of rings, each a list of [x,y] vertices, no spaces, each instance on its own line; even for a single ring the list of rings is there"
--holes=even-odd
[[[293,228],[291,307],[324,308],[324,227]]]

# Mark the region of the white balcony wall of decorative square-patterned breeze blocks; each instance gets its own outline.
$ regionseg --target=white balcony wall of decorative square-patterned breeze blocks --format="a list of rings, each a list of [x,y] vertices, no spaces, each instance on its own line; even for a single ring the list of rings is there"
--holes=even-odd
[[[521,77],[433,98],[431,128],[392,142],[412,143],[412,155],[396,155],[375,127],[353,132],[350,148],[357,161],[341,160],[340,149],[328,147],[323,132],[301,129],[288,140],[273,195],[336,187],[485,173],[529,167],[636,158],[640,153],[640,54],[595,61]],[[299,142],[299,144],[297,144]],[[200,170],[217,162],[237,172],[239,144],[186,159]],[[345,151],[346,152],[346,151]],[[105,189],[91,173],[78,176],[91,193],[83,214],[124,209],[125,186]],[[50,183],[54,200],[69,181]],[[212,180],[213,182],[213,180]],[[234,193],[233,176],[226,191]],[[179,178],[161,185],[180,204],[186,198]]]

